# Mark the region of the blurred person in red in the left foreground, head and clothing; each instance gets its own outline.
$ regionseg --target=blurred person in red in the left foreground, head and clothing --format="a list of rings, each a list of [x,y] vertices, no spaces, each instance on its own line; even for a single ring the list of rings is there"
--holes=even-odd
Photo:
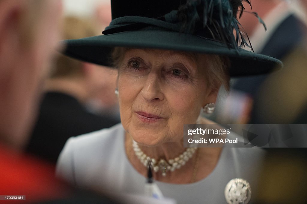
[[[22,154],[59,40],[61,6],[58,0],[0,1],[0,195],[25,195],[15,203],[68,192],[49,165]]]

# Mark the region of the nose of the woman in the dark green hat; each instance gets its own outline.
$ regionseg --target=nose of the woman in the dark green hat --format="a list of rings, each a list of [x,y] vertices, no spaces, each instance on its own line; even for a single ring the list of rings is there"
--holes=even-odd
[[[153,100],[161,101],[164,99],[161,88],[161,76],[159,76],[158,73],[150,72],[147,75],[147,79],[141,94],[148,102]]]

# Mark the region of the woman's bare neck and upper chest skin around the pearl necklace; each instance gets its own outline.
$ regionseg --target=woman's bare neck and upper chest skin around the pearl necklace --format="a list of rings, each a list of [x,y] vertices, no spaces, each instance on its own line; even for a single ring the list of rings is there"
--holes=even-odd
[[[134,168],[142,174],[147,176],[147,168],[143,165],[140,159],[135,155],[133,146],[133,139],[129,134],[125,134],[125,149],[127,157]],[[156,161],[164,159],[169,161],[178,157],[185,152],[187,148],[183,147],[182,141],[174,143],[164,143],[158,147],[139,146],[139,148]],[[173,172],[168,171],[166,176],[162,176],[161,172],[153,172],[155,180],[174,184],[188,184],[199,181],[207,177],[215,168],[221,153],[222,148],[198,148],[196,153],[179,169]]]

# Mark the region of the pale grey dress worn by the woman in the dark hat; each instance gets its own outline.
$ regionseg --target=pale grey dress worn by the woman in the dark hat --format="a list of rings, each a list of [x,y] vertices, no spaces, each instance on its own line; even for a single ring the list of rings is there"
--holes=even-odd
[[[68,139],[58,159],[57,176],[81,187],[142,195],[146,178],[126,157],[124,133],[122,124],[117,124]],[[226,184],[233,178],[243,178],[251,184],[253,200],[264,154],[257,147],[225,147],[216,168],[205,179],[192,184],[156,183],[165,197],[177,203],[223,204]]]

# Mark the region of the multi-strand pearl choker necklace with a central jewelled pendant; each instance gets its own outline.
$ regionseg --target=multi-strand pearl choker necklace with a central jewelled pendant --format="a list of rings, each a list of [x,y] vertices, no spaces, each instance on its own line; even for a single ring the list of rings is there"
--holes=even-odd
[[[144,166],[148,166],[148,162],[151,160],[153,171],[158,172],[159,170],[162,173],[162,176],[166,176],[168,171],[174,171],[175,169],[180,169],[181,166],[185,165],[185,163],[192,158],[194,153],[196,152],[196,147],[189,147],[185,152],[180,154],[178,157],[174,159],[169,159],[165,161],[164,159],[160,159],[158,162],[154,158],[148,157],[144,152],[138,147],[138,143],[133,140],[133,150],[135,155],[141,161]]]

